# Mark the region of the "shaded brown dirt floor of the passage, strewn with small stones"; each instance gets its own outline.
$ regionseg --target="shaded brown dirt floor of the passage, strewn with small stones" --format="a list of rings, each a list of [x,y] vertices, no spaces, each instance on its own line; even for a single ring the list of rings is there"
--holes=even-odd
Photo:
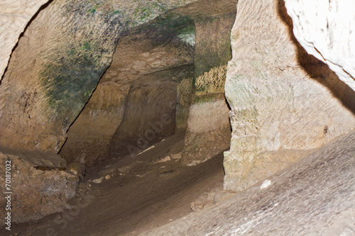
[[[102,162],[88,169],[77,196],[69,202],[72,210],[13,225],[11,235],[137,235],[192,213],[190,203],[198,196],[222,190],[223,153],[195,167],[182,166],[180,159],[151,162],[182,147],[180,133],[131,162]],[[107,174],[110,179],[92,182]],[[6,234],[0,230],[0,235]]]

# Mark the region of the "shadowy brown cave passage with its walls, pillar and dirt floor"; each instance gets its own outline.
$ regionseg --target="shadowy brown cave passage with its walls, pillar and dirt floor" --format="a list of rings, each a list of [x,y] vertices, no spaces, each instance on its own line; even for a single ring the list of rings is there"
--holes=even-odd
[[[121,35],[58,153],[80,177],[70,208],[14,233],[136,235],[214,205],[231,138],[224,82],[236,2],[214,4]],[[82,45],[88,55],[92,47]]]

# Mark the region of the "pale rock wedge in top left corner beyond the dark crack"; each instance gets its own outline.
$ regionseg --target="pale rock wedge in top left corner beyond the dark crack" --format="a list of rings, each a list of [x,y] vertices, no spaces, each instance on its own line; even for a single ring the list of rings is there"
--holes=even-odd
[[[48,0],[4,0],[0,2],[0,82],[18,37],[40,6]]]

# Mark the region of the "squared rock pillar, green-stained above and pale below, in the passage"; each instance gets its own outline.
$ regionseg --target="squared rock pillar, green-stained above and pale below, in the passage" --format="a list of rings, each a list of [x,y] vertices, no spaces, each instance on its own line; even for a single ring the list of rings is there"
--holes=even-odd
[[[200,164],[229,147],[231,129],[224,82],[226,63],[231,59],[229,38],[235,8],[225,7],[222,13],[206,13],[195,19],[195,91],[187,120],[183,164]]]

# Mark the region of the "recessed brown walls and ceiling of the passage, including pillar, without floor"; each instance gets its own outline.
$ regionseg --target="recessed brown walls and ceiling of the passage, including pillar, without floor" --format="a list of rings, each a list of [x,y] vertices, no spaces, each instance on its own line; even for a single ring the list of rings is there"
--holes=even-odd
[[[236,2],[213,1],[214,9],[209,4],[203,0],[174,9],[120,38],[111,66],[67,133],[63,158],[93,164],[108,158],[108,151],[124,157],[174,128],[187,129],[185,164],[229,147],[224,81]],[[192,101],[194,70],[198,91]]]

